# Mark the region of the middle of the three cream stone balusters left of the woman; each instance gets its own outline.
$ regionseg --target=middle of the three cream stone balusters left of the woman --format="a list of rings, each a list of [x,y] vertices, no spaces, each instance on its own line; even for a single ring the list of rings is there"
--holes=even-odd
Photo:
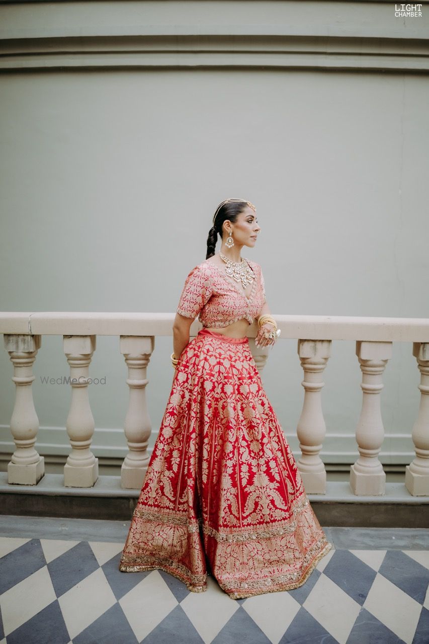
[[[64,465],[66,488],[91,488],[99,477],[99,460],[90,450],[94,419],[87,382],[95,340],[96,336],[63,336],[72,384],[72,402],[66,421],[72,446]]]

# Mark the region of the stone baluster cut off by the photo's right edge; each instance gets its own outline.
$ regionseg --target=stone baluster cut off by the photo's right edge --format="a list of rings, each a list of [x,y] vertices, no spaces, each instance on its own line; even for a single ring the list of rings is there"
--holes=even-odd
[[[414,497],[429,495],[429,343],[414,342],[413,355],[420,370],[420,406],[412,439],[415,459],[405,468],[405,486]]]

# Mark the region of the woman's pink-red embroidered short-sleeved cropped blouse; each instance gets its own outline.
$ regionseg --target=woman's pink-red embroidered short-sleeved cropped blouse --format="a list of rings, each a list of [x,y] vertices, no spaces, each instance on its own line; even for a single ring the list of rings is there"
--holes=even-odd
[[[176,312],[198,319],[203,327],[227,327],[247,319],[249,324],[258,317],[265,303],[265,283],[262,269],[256,261],[246,260],[255,274],[249,298],[235,285],[233,278],[205,260],[191,270],[186,278]]]

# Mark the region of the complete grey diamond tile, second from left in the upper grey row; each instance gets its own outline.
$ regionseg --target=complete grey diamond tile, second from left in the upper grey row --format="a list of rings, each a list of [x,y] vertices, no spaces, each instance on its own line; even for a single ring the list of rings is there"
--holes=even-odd
[[[88,542],[81,541],[48,564],[55,594],[61,597],[99,567]]]

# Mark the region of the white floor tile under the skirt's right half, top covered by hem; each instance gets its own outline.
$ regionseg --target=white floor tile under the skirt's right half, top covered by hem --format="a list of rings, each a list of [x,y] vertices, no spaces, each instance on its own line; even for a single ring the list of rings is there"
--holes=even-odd
[[[280,591],[249,597],[242,607],[272,644],[278,644],[301,605],[288,591]]]

